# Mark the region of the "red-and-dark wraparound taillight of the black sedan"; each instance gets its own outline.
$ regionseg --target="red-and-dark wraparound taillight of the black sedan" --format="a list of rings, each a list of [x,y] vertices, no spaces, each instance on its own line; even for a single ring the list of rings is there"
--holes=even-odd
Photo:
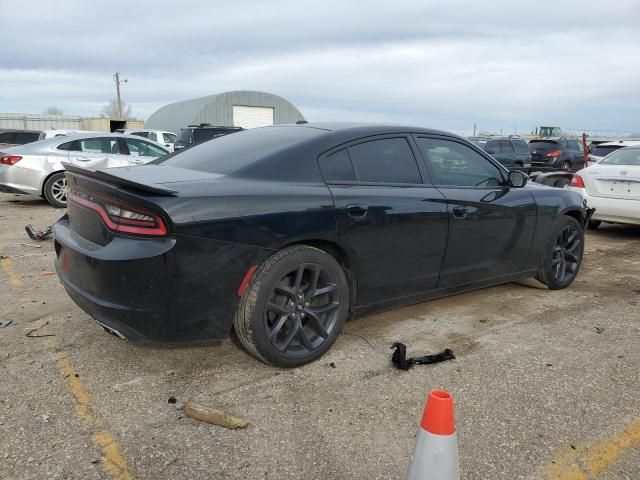
[[[150,210],[103,197],[83,190],[69,190],[67,201],[96,212],[114,232],[164,237],[167,227],[160,216]]]

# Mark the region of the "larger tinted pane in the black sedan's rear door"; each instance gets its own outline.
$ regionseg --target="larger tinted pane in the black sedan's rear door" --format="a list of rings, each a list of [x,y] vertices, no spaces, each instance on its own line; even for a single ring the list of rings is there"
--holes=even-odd
[[[361,182],[422,183],[418,164],[405,138],[384,138],[349,147]]]

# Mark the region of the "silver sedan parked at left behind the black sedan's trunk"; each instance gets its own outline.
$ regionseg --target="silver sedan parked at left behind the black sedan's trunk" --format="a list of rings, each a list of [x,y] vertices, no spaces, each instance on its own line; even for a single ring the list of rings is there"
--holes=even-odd
[[[33,142],[0,151],[0,191],[41,195],[51,205],[67,205],[63,163],[89,170],[142,165],[169,151],[131,135],[84,133]]]

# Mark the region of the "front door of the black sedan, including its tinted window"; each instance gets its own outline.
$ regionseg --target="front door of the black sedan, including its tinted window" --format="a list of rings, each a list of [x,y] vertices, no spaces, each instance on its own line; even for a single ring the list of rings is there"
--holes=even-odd
[[[449,239],[438,287],[521,271],[536,223],[531,192],[506,186],[507,173],[462,141],[419,136],[416,142],[449,212]]]

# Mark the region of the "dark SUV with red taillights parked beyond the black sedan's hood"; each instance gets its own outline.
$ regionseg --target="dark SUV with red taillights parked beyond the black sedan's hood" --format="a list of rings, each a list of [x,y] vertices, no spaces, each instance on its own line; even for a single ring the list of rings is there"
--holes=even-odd
[[[536,138],[529,142],[531,166],[580,170],[584,168],[581,143],[574,138]]]

